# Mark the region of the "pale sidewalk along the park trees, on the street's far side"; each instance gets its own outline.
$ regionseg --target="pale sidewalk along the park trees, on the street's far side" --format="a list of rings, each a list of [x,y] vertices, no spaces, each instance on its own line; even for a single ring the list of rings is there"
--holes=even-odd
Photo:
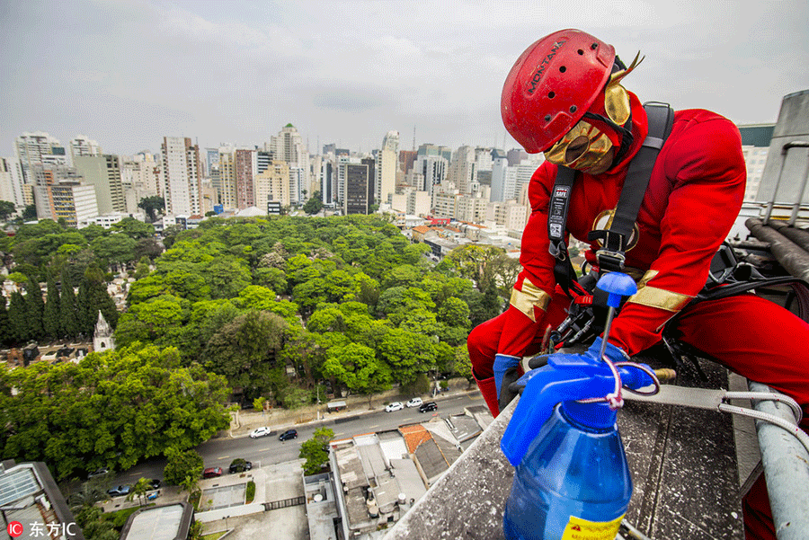
[[[341,412],[327,412],[325,403],[321,403],[319,406],[310,405],[302,407],[295,411],[285,409],[272,409],[270,412],[236,411],[231,413],[230,429],[220,431],[217,437],[246,437],[253,429],[262,426],[269,427],[274,431],[282,431],[305,424],[324,424],[333,420],[368,414],[369,412],[383,411],[387,403],[406,402],[413,397],[421,397],[426,403],[431,401],[440,402],[449,397],[455,397],[461,394],[478,394],[477,387],[475,385],[469,385],[465,378],[450,379],[448,383],[449,387],[447,390],[436,394],[435,397],[432,397],[432,394],[402,394],[401,388],[394,388],[385,393],[372,396],[370,407],[369,399],[364,395],[334,398],[335,400],[346,403],[346,409]]]

